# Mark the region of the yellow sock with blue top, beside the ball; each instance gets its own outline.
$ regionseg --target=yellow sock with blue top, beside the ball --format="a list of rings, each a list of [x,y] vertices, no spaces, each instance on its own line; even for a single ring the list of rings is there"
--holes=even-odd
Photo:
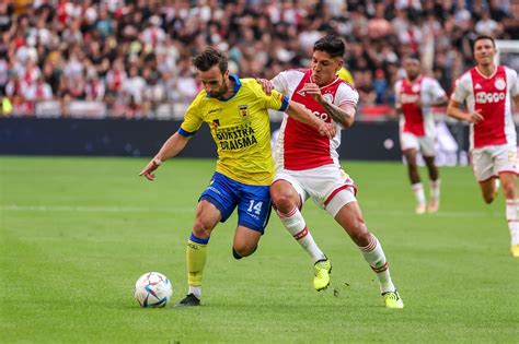
[[[189,285],[187,294],[194,294],[198,299],[201,297],[201,277],[207,260],[208,242],[209,238],[198,238],[193,233],[187,240],[187,284]]]

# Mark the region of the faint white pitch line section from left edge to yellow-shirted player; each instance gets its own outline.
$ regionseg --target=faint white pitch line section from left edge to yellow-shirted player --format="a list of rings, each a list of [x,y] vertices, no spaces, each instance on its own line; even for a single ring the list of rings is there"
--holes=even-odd
[[[188,213],[194,207],[88,206],[88,205],[0,205],[1,211],[13,212],[84,212],[84,213]]]

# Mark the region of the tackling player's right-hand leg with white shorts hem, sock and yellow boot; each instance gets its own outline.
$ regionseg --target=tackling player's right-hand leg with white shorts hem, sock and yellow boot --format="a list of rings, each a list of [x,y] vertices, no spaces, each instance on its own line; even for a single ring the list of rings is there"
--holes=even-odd
[[[368,230],[351,189],[345,189],[336,193],[326,204],[326,211],[346,230],[351,240],[358,246],[365,260],[377,274],[385,307],[403,308],[404,304],[391,278],[382,245]]]

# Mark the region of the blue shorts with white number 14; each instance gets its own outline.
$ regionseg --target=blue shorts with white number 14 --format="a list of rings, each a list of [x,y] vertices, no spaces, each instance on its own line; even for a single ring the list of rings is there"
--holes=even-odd
[[[221,213],[226,222],[238,205],[238,225],[263,234],[270,217],[270,187],[247,186],[215,173],[198,201],[206,200]]]

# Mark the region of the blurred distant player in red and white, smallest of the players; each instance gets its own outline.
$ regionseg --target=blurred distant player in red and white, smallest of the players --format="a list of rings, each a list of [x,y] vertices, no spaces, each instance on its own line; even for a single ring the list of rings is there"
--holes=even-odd
[[[416,154],[422,152],[430,179],[427,211],[435,213],[440,204],[440,179],[435,165],[436,124],[430,106],[446,105],[447,95],[438,81],[422,74],[417,57],[408,56],[403,62],[407,78],[394,85],[396,110],[400,120],[400,145],[407,162],[411,186],[416,198],[416,213],[424,214],[426,201],[424,186],[416,165]]]

